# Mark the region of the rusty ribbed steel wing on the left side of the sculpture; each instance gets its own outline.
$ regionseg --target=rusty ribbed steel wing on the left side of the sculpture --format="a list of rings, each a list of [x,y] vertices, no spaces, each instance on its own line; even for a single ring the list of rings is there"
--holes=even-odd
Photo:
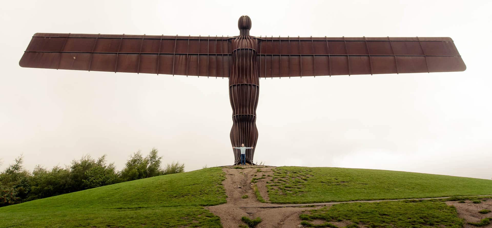
[[[36,33],[22,67],[229,77],[229,37]]]

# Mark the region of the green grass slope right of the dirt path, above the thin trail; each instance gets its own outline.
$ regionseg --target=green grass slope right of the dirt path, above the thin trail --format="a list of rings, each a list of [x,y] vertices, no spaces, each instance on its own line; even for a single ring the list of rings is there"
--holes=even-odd
[[[277,167],[267,184],[274,203],[492,195],[492,180],[415,172]]]

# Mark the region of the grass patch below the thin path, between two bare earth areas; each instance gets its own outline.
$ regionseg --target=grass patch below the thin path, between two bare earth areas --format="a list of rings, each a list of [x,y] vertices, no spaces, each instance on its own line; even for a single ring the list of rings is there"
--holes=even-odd
[[[371,228],[461,228],[463,225],[454,206],[437,200],[340,203],[330,208],[310,210],[300,218],[303,220],[301,225],[306,227],[337,228],[330,223],[335,221],[351,221],[347,228],[358,225]],[[326,222],[314,225],[310,222],[314,219]]]

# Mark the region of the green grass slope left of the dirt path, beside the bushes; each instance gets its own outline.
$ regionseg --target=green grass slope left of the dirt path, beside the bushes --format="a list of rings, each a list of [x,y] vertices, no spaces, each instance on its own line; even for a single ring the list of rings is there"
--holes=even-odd
[[[0,227],[221,227],[221,168],[156,176],[0,207]],[[197,191],[199,190],[199,191]]]

